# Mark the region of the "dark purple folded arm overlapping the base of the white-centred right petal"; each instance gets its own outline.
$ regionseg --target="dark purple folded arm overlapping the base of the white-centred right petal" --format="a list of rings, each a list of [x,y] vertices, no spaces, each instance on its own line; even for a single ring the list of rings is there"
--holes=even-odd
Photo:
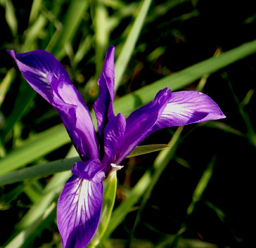
[[[117,160],[117,165],[120,164],[142,140],[152,133],[152,127],[166,107],[170,96],[171,92],[167,90],[167,88],[160,90],[153,101],[130,114],[126,120],[122,153]]]

